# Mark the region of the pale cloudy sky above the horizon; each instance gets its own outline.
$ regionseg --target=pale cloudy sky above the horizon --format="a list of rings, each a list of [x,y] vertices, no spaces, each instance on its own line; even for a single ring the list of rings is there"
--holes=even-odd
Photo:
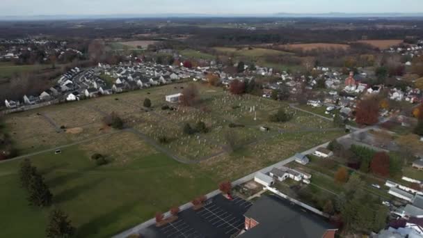
[[[418,13],[423,0],[0,0],[0,15]]]

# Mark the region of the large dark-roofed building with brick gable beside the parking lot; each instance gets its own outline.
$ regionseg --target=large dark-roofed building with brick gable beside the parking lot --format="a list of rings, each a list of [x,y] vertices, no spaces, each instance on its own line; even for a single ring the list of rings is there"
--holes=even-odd
[[[262,196],[244,216],[241,238],[333,238],[337,231],[323,216],[276,196]]]

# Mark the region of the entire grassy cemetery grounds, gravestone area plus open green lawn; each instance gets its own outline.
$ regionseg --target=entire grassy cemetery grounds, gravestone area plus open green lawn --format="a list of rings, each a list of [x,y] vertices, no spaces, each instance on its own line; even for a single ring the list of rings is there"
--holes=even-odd
[[[110,237],[150,219],[157,211],[166,212],[213,191],[218,182],[236,180],[344,134],[333,130],[331,122],[289,109],[285,102],[234,96],[223,88],[200,83],[195,83],[200,95],[197,106],[169,104],[175,110],[161,109],[165,95],[179,93],[188,84],[6,116],[6,130],[21,154],[52,149],[30,158],[45,176],[55,205],[77,226],[78,237]],[[152,100],[150,111],[142,106],[146,97]],[[271,113],[280,108],[294,113],[294,118],[285,123],[269,122]],[[113,111],[125,120],[127,129],[102,125],[104,115]],[[209,127],[208,133],[183,133],[186,122],[195,125],[199,121]],[[230,128],[231,123],[244,127]],[[58,130],[61,126],[65,129]],[[261,132],[260,126],[271,130]],[[228,148],[228,134],[236,138],[234,150]],[[160,136],[165,135],[170,141],[160,143]],[[63,145],[67,145],[63,152],[54,154],[54,148]],[[96,166],[90,159],[94,153],[104,154],[109,164]],[[0,215],[1,228],[8,237],[42,237],[48,211],[27,205],[18,169],[19,160],[0,164],[0,192],[6,194],[0,203],[7,205]],[[7,211],[9,207],[14,210]],[[13,225],[22,222],[31,225],[27,229]]]

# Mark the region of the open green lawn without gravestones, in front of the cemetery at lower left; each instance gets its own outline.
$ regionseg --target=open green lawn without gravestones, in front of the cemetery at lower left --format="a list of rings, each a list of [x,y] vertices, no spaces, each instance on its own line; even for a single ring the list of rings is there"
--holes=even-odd
[[[95,166],[89,159],[93,152],[106,154],[112,162]],[[54,193],[54,205],[64,209],[77,227],[77,237],[111,237],[157,211],[166,212],[212,191],[218,182],[196,166],[155,152],[132,134],[31,159]],[[0,166],[1,233],[4,237],[44,237],[47,209],[27,205],[19,186],[18,165],[19,161],[10,161]]]

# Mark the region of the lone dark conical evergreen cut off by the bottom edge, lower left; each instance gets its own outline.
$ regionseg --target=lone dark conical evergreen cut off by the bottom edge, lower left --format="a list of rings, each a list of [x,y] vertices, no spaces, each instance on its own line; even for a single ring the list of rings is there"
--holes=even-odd
[[[75,228],[72,226],[67,215],[60,209],[53,209],[49,215],[49,224],[46,230],[46,236],[49,238],[72,237]]]

